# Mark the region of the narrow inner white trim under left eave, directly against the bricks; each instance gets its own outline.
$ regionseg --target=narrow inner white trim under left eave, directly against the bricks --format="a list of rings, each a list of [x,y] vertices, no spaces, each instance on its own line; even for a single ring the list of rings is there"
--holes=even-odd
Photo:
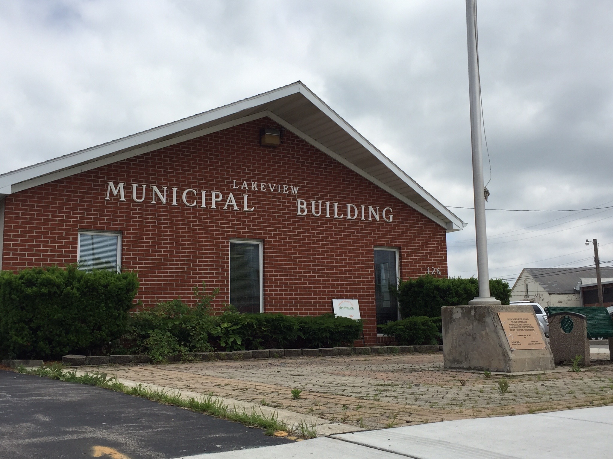
[[[10,193],[17,193],[23,190],[27,190],[28,188],[36,187],[37,185],[42,185],[48,182],[53,182],[54,180],[63,179],[64,177],[69,177],[71,175],[89,171],[97,167],[105,166],[107,164],[115,163],[115,162],[118,162],[124,159],[129,159],[129,158],[132,158],[138,155],[142,155],[143,153],[158,150],[158,149],[170,146],[170,145],[174,145],[177,143],[185,142],[187,140],[195,139],[203,135],[208,135],[213,132],[218,132],[220,130],[228,129],[229,127],[234,127],[234,126],[237,126],[237,125],[249,122],[249,121],[254,121],[256,119],[264,118],[265,116],[268,116],[268,113],[269,113],[268,111],[261,111],[259,113],[254,113],[249,116],[243,116],[243,118],[237,118],[232,121],[227,121],[225,123],[218,124],[216,126],[211,126],[211,127],[208,127],[207,129],[190,132],[189,134],[181,135],[178,137],[173,137],[168,140],[164,140],[162,142],[157,142],[157,143],[153,143],[153,144],[150,144],[144,147],[135,148],[135,149],[132,149],[132,150],[120,153],[120,154],[116,154],[116,155],[110,155],[110,156],[107,156],[107,157],[104,157],[98,160],[91,160],[89,162],[82,163],[80,165],[77,165],[77,166],[74,166],[68,169],[46,174],[44,176],[34,177],[32,179],[29,179],[23,182],[18,182],[17,184],[14,184],[12,186],[9,185]],[[9,186],[7,186],[5,189],[9,190]],[[2,188],[0,188],[0,194],[1,193],[2,193]],[[10,194],[10,193],[6,193],[6,194]]]

